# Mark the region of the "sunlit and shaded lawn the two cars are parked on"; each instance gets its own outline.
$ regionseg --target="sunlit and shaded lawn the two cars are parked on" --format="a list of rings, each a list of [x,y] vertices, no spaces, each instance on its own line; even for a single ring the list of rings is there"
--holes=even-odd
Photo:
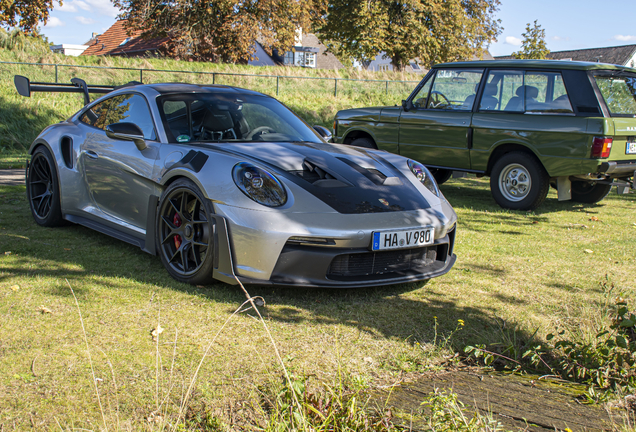
[[[443,277],[345,291],[248,287],[265,299],[261,311],[291,373],[373,387],[437,367],[452,350],[499,341],[503,322],[521,338],[564,325],[593,337],[605,275],[634,304],[634,195],[581,205],[551,192],[527,213],[497,207],[485,179],[452,179],[442,191],[459,216],[458,261]],[[205,349],[245,300],[236,287],[178,283],[158,258],[83,227],[38,227],[24,187],[0,186],[3,430],[104,429],[67,280],[113,430],[160,430],[159,414],[174,421]],[[236,315],[216,338],[182,427],[267,425],[263,388],[282,371],[255,318]],[[456,331],[458,320],[465,326]],[[453,331],[448,347],[435,349]]]

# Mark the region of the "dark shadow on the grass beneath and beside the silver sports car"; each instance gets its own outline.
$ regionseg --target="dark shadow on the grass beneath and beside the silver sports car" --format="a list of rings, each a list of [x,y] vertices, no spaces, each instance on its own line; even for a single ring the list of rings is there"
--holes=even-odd
[[[245,300],[236,286],[179,283],[168,276],[159,257],[87,228],[37,226],[26,199],[16,199],[24,197],[24,186],[0,187],[0,196],[0,283],[15,276],[55,278],[57,282],[48,292],[68,297],[68,279],[80,302],[91,301],[91,286],[95,285],[112,290],[158,285],[225,304],[228,314]],[[7,251],[11,252],[8,256],[4,255]],[[495,276],[505,272],[490,266],[463,264],[462,268]],[[439,335],[449,334],[461,319],[470,328],[461,338],[471,337],[471,344],[490,342],[480,338],[484,333],[487,337],[486,329],[497,327],[494,310],[459,306],[434,282],[364,289],[247,289],[266,300],[263,313],[268,319],[288,324],[345,325],[384,338],[424,343],[434,338],[434,317]]]

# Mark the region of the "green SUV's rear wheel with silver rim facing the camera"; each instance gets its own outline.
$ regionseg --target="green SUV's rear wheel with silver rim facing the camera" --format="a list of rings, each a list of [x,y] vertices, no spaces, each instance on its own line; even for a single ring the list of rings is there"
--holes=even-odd
[[[534,210],[545,201],[549,188],[548,173],[528,153],[506,153],[495,162],[490,173],[490,191],[503,208]]]

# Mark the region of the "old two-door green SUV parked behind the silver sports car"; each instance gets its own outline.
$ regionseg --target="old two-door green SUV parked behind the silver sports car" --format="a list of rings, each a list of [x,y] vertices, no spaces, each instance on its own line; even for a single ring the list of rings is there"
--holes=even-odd
[[[497,203],[595,203],[634,188],[636,69],[558,60],[434,66],[402,106],[339,111],[334,141],[399,153],[438,183],[490,176]]]

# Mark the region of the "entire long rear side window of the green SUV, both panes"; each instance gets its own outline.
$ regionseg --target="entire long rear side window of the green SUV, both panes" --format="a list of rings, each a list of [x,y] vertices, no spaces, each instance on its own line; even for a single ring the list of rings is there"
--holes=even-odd
[[[491,71],[479,109],[574,113],[560,72]]]

